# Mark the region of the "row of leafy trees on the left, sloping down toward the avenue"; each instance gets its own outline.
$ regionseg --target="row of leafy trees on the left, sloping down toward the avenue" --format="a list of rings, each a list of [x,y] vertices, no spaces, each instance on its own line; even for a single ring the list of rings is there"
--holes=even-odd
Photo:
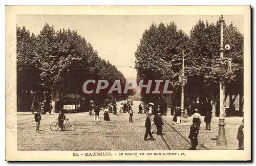
[[[65,94],[79,93],[86,79],[126,83],[122,73],[98,57],[93,46],[77,31],[55,31],[46,23],[35,35],[17,26],[17,96],[25,99],[27,107],[33,99],[41,102],[44,94],[46,103],[52,100],[55,104]],[[103,96],[99,94],[90,96],[90,100],[100,98]]]

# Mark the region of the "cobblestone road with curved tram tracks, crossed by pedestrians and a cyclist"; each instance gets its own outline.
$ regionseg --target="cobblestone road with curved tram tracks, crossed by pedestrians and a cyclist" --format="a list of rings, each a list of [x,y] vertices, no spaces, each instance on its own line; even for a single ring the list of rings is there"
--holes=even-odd
[[[98,123],[88,112],[66,114],[70,122],[77,124],[75,131],[52,131],[50,124],[56,122],[58,114],[44,114],[40,131],[35,131],[34,115],[17,114],[17,147],[18,150],[187,150],[189,139],[188,125],[174,125],[172,118],[163,116],[163,136],[153,134],[156,140],[144,141],[145,115],[137,114],[137,104],[134,109],[134,123],[129,123],[129,114],[113,115],[110,122],[103,121],[100,112]],[[225,126],[228,144],[236,144],[236,133],[239,124],[228,123]],[[212,123],[212,130],[202,130],[199,133],[198,150],[205,150],[204,143],[214,143],[218,135],[218,123]]]

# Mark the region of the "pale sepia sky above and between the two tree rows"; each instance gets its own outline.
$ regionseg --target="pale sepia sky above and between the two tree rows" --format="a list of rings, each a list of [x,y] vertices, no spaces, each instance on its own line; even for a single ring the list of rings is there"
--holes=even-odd
[[[55,30],[76,30],[92,44],[99,57],[109,60],[127,80],[136,80],[134,53],[145,29],[153,22],[167,25],[174,21],[178,29],[189,35],[200,18],[215,23],[219,15],[17,15],[17,25],[36,35],[46,23]],[[244,33],[243,15],[223,18],[227,25],[232,21]]]

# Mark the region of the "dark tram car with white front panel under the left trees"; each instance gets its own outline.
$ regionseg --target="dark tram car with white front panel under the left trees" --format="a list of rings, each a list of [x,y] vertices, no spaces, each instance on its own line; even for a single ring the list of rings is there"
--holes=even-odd
[[[84,106],[84,97],[79,94],[68,94],[63,97],[63,110],[65,113],[81,112]]]

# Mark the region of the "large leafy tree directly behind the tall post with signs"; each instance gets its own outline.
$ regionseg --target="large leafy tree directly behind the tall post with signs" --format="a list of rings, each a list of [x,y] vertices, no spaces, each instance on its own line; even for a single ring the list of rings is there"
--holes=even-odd
[[[231,71],[225,74],[226,87],[229,91],[242,89],[234,86],[242,78],[243,73],[243,35],[237,28],[224,25],[224,45],[230,44],[231,50],[225,51],[224,55],[232,61]],[[203,96],[203,101],[210,101],[212,115],[216,115],[216,105],[219,101],[219,74],[212,72],[212,60],[220,58],[220,23],[208,23],[199,20],[190,31],[190,46],[193,53],[186,57],[186,72],[194,77],[194,81],[188,82],[187,88],[201,87],[198,96]],[[191,92],[193,93],[193,92]],[[208,94],[210,94],[208,96]],[[210,97],[210,100],[208,100]],[[196,97],[197,98],[197,97]]]

